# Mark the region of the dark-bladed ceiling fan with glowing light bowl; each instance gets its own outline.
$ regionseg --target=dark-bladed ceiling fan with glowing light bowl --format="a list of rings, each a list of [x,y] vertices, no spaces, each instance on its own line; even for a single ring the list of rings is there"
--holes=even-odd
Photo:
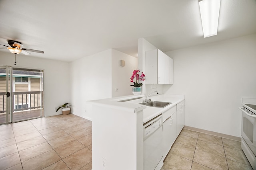
[[[30,55],[30,53],[28,53],[27,51],[31,51],[31,52],[35,52],[35,53],[44,53],[44,51],[39,51],[39,50],[33,50],[33,49],[24,49],[24,48],[20,48],[22,47],[22,43],[19,42],[19,41],[14,41],[14,40],[7,40],[8,44],[10,45],[7,46],[7,45],[3,45],[5,47],[7,47],[7,49],[11,52],[11,53],[14,53],[14,54],[24,54],[24,55]],[[2,44],[0,44],[2,45]],[[4,47],[4,48],[5,48]],[[4,49],[4,48],[0,48],[0,49]]]

